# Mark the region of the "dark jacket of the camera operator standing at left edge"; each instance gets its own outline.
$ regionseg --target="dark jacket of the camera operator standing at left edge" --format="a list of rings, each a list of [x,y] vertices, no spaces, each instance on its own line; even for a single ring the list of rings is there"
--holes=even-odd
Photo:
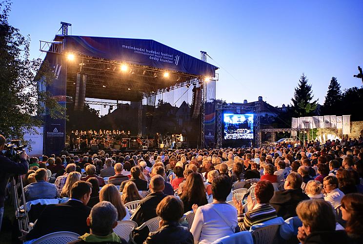
[[[6,184],[10,174],[24,175],[28,172],[28,162],[23,159],[20,163],[11,161],[0,152],[0,207],[4,206]]]

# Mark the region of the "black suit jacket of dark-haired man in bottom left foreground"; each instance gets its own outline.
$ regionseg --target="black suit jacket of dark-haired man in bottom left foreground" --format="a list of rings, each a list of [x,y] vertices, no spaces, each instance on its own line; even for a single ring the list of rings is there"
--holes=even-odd
[[[75,200],[47,205],[40,214],[37,224],[26,235],[26,240],[37,239],[58,231],[70,231],[83,235],[89,232],[86,220],[90,212],[90,207]]]

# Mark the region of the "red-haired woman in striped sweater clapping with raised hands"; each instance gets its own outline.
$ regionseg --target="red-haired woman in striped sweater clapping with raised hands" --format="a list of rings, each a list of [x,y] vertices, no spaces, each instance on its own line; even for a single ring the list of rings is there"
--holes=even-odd
[[[259,181],[255,187],[256,201],[249,195],[247,198],[248,212],[243,214],[243,203],[233,197],[233,203],[238,211],[238,226],[243,230],[249,230],[254,224],[259,224],[270,219],[277,218],[276,210],[269,204],[274,195],[274,186],[269,181]]]

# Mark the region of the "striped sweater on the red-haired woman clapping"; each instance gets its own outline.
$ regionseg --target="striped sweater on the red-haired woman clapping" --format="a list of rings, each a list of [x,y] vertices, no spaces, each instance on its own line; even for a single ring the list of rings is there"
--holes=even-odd
[[[277,218],[277,214],[273,206],[270,204],[257,204],[245,215],[238,214],[238,226],[240,226],[241,231],[249,230],[254,224],[260,224],[274,218]]]

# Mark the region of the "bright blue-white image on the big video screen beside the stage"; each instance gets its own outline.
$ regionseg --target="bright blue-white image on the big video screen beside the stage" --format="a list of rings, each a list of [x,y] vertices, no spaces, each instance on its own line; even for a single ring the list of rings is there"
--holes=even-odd
[[[253,114],[224,114],[224,140],[253,139]]]

